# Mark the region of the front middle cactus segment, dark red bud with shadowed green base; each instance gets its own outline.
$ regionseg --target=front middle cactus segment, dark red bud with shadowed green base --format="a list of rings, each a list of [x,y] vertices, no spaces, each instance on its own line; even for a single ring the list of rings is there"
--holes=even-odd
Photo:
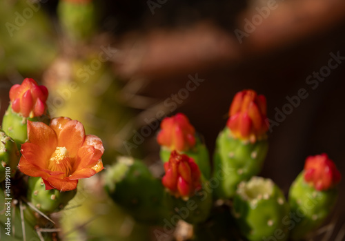
[[[190,224],[204,222],[210,215],[213,197],[209,182],[193,158],[172,151],[164,169],[161,182],[166,187],[164,200],[172,211],[171,219],[181,218]]]

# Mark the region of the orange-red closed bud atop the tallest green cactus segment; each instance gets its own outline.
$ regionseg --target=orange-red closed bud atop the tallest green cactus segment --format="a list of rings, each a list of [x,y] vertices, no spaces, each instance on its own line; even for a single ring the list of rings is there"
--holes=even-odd
[[[256,142],[268,131],[266,111],[264,95],[257,95],[254,90],[240,91],[231,103],[226,125],[235,137]]]

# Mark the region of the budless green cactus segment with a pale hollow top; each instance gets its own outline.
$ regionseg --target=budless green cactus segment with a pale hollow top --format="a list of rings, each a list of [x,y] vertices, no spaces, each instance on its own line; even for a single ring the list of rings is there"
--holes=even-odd
[[[234,197],[233,215],[242,234],[250,241],[286,240],[289,206],[270,179],[252,177],[241,182]]]

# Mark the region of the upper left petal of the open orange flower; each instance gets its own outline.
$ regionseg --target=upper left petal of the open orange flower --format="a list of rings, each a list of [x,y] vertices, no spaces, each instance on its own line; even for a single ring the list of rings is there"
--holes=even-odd
[[[30,122],[28,120],[28,140],[44,148],[46,155],[51,155],[57,148],[57,135],[43,122]]]

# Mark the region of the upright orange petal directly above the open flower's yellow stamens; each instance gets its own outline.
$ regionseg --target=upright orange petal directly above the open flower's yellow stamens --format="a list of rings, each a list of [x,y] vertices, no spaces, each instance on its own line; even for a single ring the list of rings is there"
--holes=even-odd
[[[57,136],[58,146],[64,146],[68,150],[70,157],[75,157],[78,153],[79,148],[85,141],[85,130],[83,124],[77,120],[71,120],[66,122]]]

